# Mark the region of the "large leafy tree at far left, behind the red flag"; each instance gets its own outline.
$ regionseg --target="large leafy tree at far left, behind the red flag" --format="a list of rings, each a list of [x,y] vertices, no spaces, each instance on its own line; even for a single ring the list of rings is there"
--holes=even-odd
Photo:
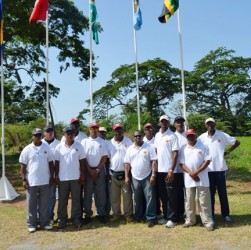
[[[30,119],[34,119],[34,116],[45,114],[45,105],[41,105],[45,103],[45,92],[41,92],[40,89],[43,85],[40,77],[46,71],[45,23],[29,24],[29,16],[34,3],[35,0],[16,0],[6,1],[4,5],[4,75],[5,79],[11,80],[11,83],[7,85],[9,88],[13,87],[13,98],[20,95],[22,97],[11,99],[8,105],[13,105],[14,113],[16,109],[18,110],[18,105],[25,106],[23,112],[19,114],[20,119],[13,120],[13,116],[13,119],[7,119],[8,122],[20,120],[29,122]],[[81,80],[89,78],[90,51],[84,46],[83,39],[88,29],[88,18],[76,8],[72,1],[50,1],[49,46],[56,48],[58,52],[59,72],[72,66],[79,69]],[[101,27],[99,30],[102,30]],[[93,65],[95,76],[97,68],[95,63]],[[18,86],[18,84],[22,85]],[[39,96],[38,93],[44,96]],[[57,96],[58,93],[59,89],[53,87],[51,83],[50,94]],[[35,112],[33,112],[34,109],[36,109]],[[27,114],[23,114],[21,118],[25,111]]]

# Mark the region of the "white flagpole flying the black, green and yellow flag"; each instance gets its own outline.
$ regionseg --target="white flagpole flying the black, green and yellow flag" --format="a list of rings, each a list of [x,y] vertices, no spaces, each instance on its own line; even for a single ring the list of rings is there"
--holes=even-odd
[[[185,90],[185,80],[184,80],[182,35],[181,35],[181,28],[180,28],[180,8],[178,9],[177,17],[178,17],[178,33],[179,33],[179,43],[180,43],[180,63],[181,63],[181,85],[182,85],[183,117],[186,119],[186,90]],[[186,129],[186,125],[185,125],[185,129]]]

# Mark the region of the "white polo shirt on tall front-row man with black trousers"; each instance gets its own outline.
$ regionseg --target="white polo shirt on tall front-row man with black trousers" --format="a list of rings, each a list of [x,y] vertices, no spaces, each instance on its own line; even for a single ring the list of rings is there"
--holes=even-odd
[[[179,150],[178,138],[168,128],[164,134],[158,132],[155,135],[154,147],[158,155],[158,172],[167,173],[172,164],[172,152]]]

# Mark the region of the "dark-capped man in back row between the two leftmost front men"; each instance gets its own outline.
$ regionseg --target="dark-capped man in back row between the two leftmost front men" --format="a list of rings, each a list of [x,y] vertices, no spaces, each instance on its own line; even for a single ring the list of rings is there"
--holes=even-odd
[[[54,136],[54,127],[51,125],[47,125],[44,127],[44,138],[42,139],[42,142],[47,143],[49,147],[51,148],[53,152],[53,156],[55,156],[55,148],[60,143],[59,140],[57,140]],[[55,160],[54,160],[55,163]],[[50,221],[51,224],[54,222],[54,208],[56,204],[56,184],[53,183],[51,185],[51,200],[50,200]]]

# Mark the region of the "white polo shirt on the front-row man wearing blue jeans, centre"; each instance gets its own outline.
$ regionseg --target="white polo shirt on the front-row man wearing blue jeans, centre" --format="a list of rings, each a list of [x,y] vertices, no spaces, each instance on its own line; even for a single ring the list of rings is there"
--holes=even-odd
[[[157,160],[154,147],[144,142],[138,148],[134,143],[127,149],[124,163],[131,165],[133,178],[143,180],[151,173],[151,161],[153,160]]]

